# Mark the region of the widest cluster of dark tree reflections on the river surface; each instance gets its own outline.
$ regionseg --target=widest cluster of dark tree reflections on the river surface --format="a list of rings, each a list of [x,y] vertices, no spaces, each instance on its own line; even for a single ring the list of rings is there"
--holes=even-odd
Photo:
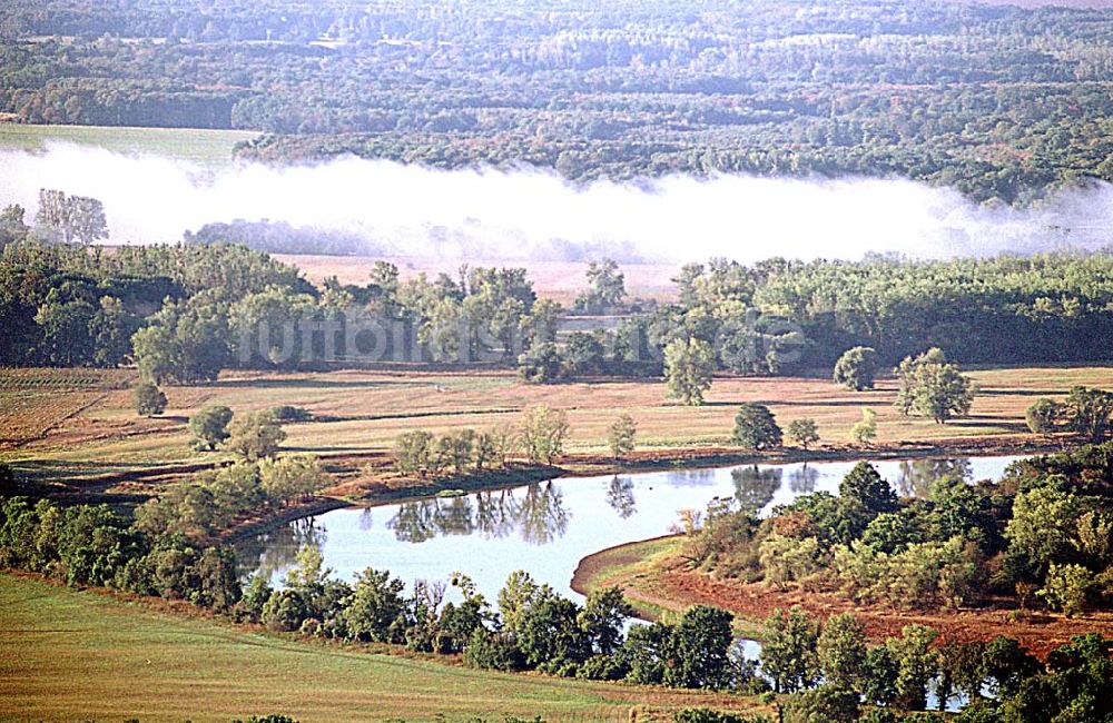
[[[615,477],[615,481],[618,477]],[[630,513],[633,496],[630,495]],[[568,529],[564,496],[552,481],[516,489],[480,492],[464,497],[434,498],[398,505],[386,522],[398,542],[422,543],[444,535],[506,537],[516,533],[522,542],[544,545]]]

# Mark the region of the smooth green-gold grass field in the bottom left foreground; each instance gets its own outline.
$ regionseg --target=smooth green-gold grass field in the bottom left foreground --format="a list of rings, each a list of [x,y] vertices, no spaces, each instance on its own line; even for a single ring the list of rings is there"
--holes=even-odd
[[[303,643],[0,574],[0,721],[669,720],[726,695],[473,671]],[[634,717],[634,713],[637,716]],[[437,717],[443,716],[443,717]]]

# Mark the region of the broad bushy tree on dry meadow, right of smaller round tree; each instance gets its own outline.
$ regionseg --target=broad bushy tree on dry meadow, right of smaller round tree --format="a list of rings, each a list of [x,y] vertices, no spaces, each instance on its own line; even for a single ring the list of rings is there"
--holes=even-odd
[[[917,357],[905,357],[895,369],[900,382],[896,406],[904,413],[915,412],[944,424],[953,416],[969,412],[974,389],[958,365],[947,361],[938,348]]]

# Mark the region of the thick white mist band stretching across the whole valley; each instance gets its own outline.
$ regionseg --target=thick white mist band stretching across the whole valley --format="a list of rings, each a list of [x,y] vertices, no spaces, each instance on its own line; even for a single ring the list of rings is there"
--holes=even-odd
[[[1113,228],[1105,184],[1016,210],[895,179],[672,176],[578,187],[541,171],[355,158],[214,171],[73,145],[0,151],[0,205],[21,204],[32,218],[40,188],[104,201],[114,244],[173,242],[206,222],[268,219],[354,231],[372,252],[437,259],[940,258],[1095,248]]]

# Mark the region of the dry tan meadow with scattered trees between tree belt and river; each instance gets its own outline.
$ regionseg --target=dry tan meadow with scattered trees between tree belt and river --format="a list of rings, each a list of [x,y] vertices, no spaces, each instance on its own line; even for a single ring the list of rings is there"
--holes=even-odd
[[[400,433],[413,428],[447,432],[513,424],[522,409],[546,404],[568,412],[568,452],[598,456],[605,454],[607,429],[622,413],[638,423],[642,452],[727,446],[737,405],[742,402],[768,404],[782,427],[800,417],[816,419],[820,444],[828,450],[849,446],[850,428],[865,407],[878,413],[878,446],[1036,443],[1041,440],[1024,424],[1024,410],[1035,398],[1061,397],[1075,384],[1113,388],[1113,367],[974,370],[971,376],[979,390],[971,415],[937,425],[902,416],[893,407],[896,386],[892,379],[881,380],[873,392],[854,393],[827,379],[719,378],[705,406],[683,407],[666,397],[664,384],[657,379],[533,386],[510,372],[237,373],[213,384],[167,387],[169,406],[154,419],[135,415],[127,389],[90,392],[52,382],[57,392],[40,403],[57,419],[42,434],[36,433],[47,418],[42,407],[17,408],[12,403],[28,395],[31,374],[0,372],[0,408],[8,415],[3,418],[8,439],[0,446],[0,456],[39,477],[66,481],[220,459],[220,453],[198,453],[190,446],[188,417],[207,404],[235,410],[288,404],[326,416],[331,420],[287,425],[285,446],[333,457],[382,455]],[[42,374],[55,378],[60,373]],[[83,370],[72,374],[88,376]],[[12,439],[20,429],[26,436]],[[116,491],[137,492],[130,484]]]

